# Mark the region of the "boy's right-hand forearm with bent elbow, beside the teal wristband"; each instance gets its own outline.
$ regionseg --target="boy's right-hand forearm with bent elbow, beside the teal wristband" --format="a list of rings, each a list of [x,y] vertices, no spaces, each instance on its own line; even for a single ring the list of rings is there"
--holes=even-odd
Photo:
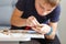
[[[57,30],[57,22],[56,23],[50,23],[50,26],[53,29],[53,32],[51,35],[45,35],[46,38],[51,38],[51,40],[54,40],[55,38],[55,35],[56,35],[56,30]]]

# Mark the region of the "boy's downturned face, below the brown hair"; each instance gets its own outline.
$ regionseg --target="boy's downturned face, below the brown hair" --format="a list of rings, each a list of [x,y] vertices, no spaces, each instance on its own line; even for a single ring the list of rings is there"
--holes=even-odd
[[[46,15],[51,13],[56,8],[56,6],[52,7],[50,3],[40,3],[40,6],[43,7],[43,10],[44,10],[42,15]]]

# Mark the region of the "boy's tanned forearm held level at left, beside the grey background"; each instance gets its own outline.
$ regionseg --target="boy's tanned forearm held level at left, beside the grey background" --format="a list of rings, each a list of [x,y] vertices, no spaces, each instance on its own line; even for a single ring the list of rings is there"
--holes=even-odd
[[[12,25],[15,25],[15,26],[19,26],[19,28],[25,26],[25,24],[26,24],[26,19],[21,19],[21,18],[12,19],[12,20],[11,20],[11,24],[12,24]]]

